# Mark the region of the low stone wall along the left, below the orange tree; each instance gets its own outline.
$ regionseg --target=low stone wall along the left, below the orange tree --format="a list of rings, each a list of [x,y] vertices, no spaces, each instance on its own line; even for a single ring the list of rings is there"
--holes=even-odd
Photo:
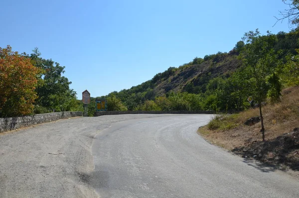
[[[83,116],[81,111],[67,111],[67,112],[55,112],[36,114],[33,116],[21,116],[13,118],[0,118],[0,133],[4,131],[10,131],[21,127],[28,127],[35,124],[41,124],[44,122],[52,122],[55,120]]]

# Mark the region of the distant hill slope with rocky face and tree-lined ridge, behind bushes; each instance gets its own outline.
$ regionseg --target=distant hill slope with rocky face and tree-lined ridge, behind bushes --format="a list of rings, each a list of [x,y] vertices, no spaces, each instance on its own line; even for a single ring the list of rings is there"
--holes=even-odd
[[[112,92],[119,98],[123,95],[144,93],[146,100],[153,100],[169,92],[204,93],[206,84],[215,77],[227,78],[241,66],[238,53],[218,52],[207,55],[204,59],[194,58],[193,61],[179,67],[169,67],[162,73],[156,74],[151,80],[130,89]]]

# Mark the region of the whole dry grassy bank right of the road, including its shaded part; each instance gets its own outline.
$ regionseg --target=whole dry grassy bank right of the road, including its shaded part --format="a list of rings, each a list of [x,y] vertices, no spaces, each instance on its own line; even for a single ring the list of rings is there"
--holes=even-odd
[[[246,121],[259,116],[259,108],[238,114],[218,114],[198,133],[212,144],[244,158],[285,169],[299,170],[299,86],[283,90],[281,102],[263,106],[265,141],[261,122]]]

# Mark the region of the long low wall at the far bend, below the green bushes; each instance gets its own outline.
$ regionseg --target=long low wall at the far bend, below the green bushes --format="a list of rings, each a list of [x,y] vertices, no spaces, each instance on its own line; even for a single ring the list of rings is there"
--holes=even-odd
[[[97,111],[94,116],[119,114],[213,114],[213,111]]]

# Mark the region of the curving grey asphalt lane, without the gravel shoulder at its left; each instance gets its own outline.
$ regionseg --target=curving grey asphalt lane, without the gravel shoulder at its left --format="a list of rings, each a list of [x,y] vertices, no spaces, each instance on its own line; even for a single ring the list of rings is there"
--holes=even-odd
[[[298,180],[196,134],[209,119],[174,115],[112,124],[93,142],[95,170],[86,182],[101,198],[299,198]]]

